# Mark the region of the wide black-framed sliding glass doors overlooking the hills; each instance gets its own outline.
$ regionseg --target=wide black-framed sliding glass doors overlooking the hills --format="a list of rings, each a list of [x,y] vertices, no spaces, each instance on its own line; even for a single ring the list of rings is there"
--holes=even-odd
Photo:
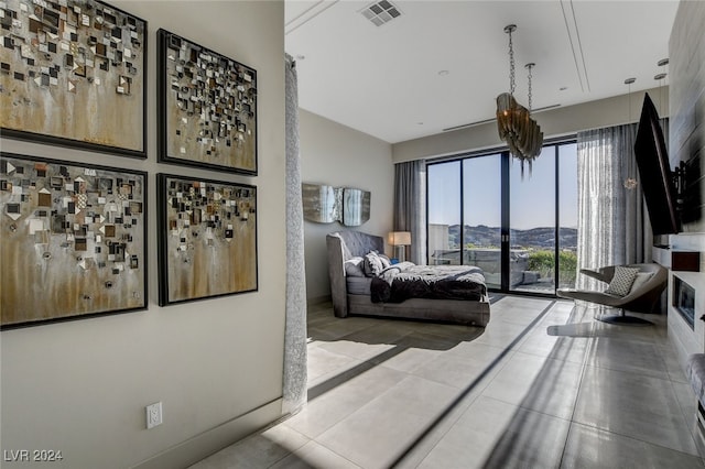
[[[507,152],[427,166],[429,263],[477,265],[501,291],[575,283],[577,154],[544,145],[531,171]]]

